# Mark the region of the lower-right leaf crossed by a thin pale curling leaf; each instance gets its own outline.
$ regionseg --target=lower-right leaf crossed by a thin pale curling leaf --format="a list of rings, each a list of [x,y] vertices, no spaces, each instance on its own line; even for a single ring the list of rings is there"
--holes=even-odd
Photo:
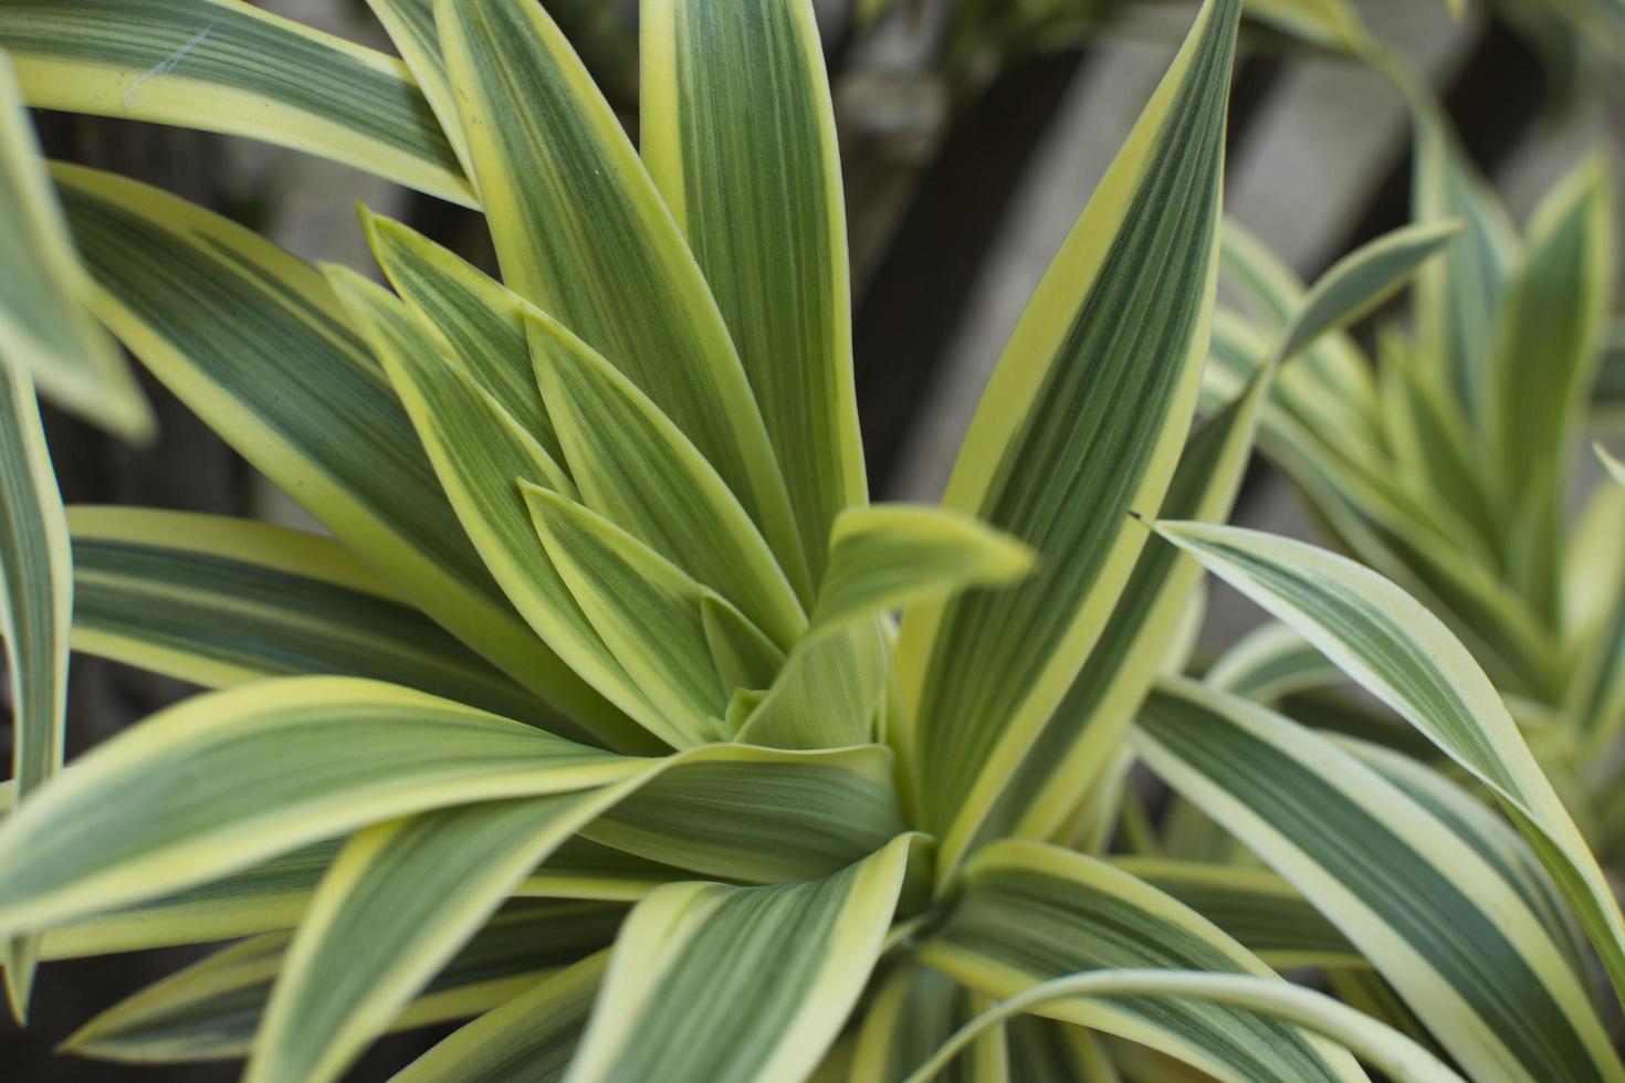
[[[1087,969],[1196,969],[1279,981],[1212,922],[1149,883],[1027,841],[994,843],[967,862],[957,904],[921,945],[920,960],[990,997]],[[1142,1042],[1220,1080],[1363,1078],[1329,1044],[1227,1007],[1141,999],[1069,1005],[1055,1018]]]

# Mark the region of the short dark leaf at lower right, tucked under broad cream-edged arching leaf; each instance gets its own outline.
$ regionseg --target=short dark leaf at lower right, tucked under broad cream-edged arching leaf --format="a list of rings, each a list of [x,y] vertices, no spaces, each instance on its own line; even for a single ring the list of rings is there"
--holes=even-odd
[[[1277,969],[1367,964],[1336,926],[1271,872],[1160,857],[1112,864],[1180,900]]]

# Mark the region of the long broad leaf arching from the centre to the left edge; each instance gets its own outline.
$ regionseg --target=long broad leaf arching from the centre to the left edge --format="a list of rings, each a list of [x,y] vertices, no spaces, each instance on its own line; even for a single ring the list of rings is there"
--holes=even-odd
[[[370,680],[202,695],[98,745],[6,817],[0,932],[177,891],[390,817],[587,789],[637,766]]]

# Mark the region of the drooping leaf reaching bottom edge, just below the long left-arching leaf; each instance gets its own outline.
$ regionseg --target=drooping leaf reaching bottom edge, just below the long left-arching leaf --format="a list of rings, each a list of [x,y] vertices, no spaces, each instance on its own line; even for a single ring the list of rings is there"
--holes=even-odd
[[[481,802],[359,831],[294,934],[244,1078],[343,1075],[525,874],[613,797]]]

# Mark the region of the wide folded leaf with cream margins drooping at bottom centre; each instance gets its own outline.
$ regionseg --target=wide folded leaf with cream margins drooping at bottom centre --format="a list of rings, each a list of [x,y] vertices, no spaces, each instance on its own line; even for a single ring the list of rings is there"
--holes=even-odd
[[[616,940],[570,1081],[806,1072],[869,979],[913,841],[900,836],[821,880],[656,890]]]

